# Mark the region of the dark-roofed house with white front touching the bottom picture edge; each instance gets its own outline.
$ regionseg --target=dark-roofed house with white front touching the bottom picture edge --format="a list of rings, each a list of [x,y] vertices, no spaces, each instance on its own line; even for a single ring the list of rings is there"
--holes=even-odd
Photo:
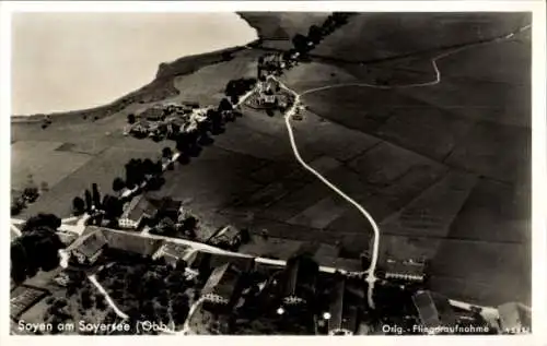
[[[340,277],[331,293],[331,301],[328,311],[329,335],[352,335],[358,325],[358,297],[348,290],[347,281]]]

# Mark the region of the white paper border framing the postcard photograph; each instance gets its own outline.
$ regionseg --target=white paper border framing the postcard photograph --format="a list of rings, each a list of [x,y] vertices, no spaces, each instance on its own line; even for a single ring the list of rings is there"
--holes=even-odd
[[[545,199],[546,190],[546,121],[545,121],[545,2],[544,1],[198,1],[198,2],[93,2],[93,1],[9,1],[0,2],[1,17],[0,17],[0,76],[2,77],[2,87],[0,87],[0,110],[2,119],[7,121],[7,126],[1,127],[3,139],[10,135],[10,88],[5,87],[11,84],[10,81],[10,56],[11,56],[11,29],[10,16],[12,12],[233,12],[233,11],[363,11],[363,12],[476,12],[476,11],[498,11],[498,12],[512,12],[512,11],[533,11],[533,330],[532,336],[515,336],[515,337],[463,337],[463,336],[446,336],[446,337],[411,337],[411,336],[369,336],[365,341],[360,337],[348,337],[339,339],[337,343],[344,344],[361,344],[373,343],[374,345],[393,345],[395,343],[404,343],[407,345],[438,345],[441,344],[458,344],[458,343],[476,343],[481,345],[489,345],[490,343],[501,343],[513,345],[519,343],[522,345],[547,345],[547,335],[544,326],[547,325],[546,319],[546,218],[545,212],[547,201]],[[2,146],[2,157],[10,157],[9,146]],[[8,231],[8,206],[9,201],[9,181],[10,172],[7,169],[9,165],[3,165],[5,169],[2,170],[2,182],[8,182],[2,193],[2,219],[3,236],[9,238]],[[5,213],[5,214],[3,214]],[[1,255],[8,256],[9,241],[2,241],[3,249],[0,250]],[[27,343],[55,343],[55,344],[72,344],[74,342],[81,345],[91,345],[95,339],[85,336],[74,337],[55,337],[55,336],[40,336],[40,337],[18,337],[8,336],[9,334],[9,293],[8,293],[8,276],[9,260],[7,258],[1,261],[2,273],[2,295],[4,298],[0,299],[2,311],[0,317],[0,333],[1,344],[8,342],[11,344],[27,344]],[[5,290],[5,291],[4,291]],[[199,343],[202,345],[223,343],[230,345],[256,345],[256,344],[323,344],[330,343],[334,339],[329,337],[188,337],[183,341],[174,337],[114,337],[109,338],[108,343],[114,344],[130,344],[130,345],[147,345],[150,341],[161,341],[161,343],[171,342],[173,344],[179,343]],[[542,342],[543,341],[543,342]],[[105,339],[106,342],[106,339]]]

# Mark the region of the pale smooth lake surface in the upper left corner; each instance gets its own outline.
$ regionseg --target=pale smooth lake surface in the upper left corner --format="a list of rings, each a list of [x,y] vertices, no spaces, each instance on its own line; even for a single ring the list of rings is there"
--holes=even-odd
[[[235,13],[14,13],[12,115],[105,105],[149,83],[161,62],[244,45]]]

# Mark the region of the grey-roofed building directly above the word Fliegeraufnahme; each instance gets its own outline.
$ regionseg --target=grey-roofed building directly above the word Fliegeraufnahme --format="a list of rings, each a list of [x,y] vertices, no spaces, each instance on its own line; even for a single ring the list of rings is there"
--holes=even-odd
[[[446,297],[433,291],[421,290],[412,296],[412,302],[418,311],[424,333],[432,334],[435,329],[456,325],[456,314]]]

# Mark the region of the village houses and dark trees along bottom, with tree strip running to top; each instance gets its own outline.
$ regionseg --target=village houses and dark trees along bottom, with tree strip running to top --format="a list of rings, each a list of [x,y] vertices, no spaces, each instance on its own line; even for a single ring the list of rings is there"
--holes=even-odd
[[[230,224],[210,229],[193,213],[191,203],[147,193],[161,186],[163,174],[175,163],[187,162],[210,136],[242,117],[243,103],[269,117],[295,109],[293,119],[302,120],[303,106],[274,76],[296,65],[348,17],[336,14],[319,34],[296,40],[289,52],[261,57],[257,77],[230,81],[218,107],[163,103],[129,115],[124,134],[171,140],[176,152],[166,147],[156,162],[127,163],[126,176],[113,181],[116,195],[102,196],[93,184],[83,198],[74,198],[74,215],[85,220],[82,232],[56,248],[61,265],[51,272],[55,284],[47,285],[54,298],[42,307],[45,313],[34,313],[35,322],[58,324],[78,315],[135,324],[143,318],[175,325],[144,334],[184,335],[500,334],[529,326],[529,311],[522,305],[509,302],[489,315],[488,309],[458,306],[430,290],[428,259],[383,261],[376,274],[376,307],[371,309],[363,279],[371,262],[369,249],[359,261],[336,264],[305,246],[286,259],[253,255],[253,244],[258,238],[267,240],[267,230],[257,237]],[[60,220],[57,225],[51,223],[55,216],[36,216],[33,228],[60,229]],[[32,270],[23,272],[26,279]],[[91,295],[86,278],[96,278],[107,294]],[[12,321],[31,321],[33,308],[14,309],[16,302],[12,299]],[[74,305],[96,311],[89,315]]]

